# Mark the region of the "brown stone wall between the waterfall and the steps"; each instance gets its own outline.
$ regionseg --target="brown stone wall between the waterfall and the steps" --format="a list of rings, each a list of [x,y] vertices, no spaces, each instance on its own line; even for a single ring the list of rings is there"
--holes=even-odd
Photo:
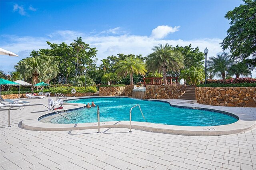
[[[184,85],[147,85],[145,99],[178,99],[186,91]],[[180,90],[182,89],[182,90]]]

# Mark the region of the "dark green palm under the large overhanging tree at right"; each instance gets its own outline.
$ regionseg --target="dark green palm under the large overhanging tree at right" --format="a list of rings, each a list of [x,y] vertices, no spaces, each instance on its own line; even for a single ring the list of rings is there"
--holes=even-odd
[[[236,79],[239,78],[240,75],[251,76],[252,73],[251,73],[250,69],[247,67],[246,63],[239,62],[239,63],[231,65],[230,75],[235,75],[236,77],[235,77],[234,81],[236,81]]]

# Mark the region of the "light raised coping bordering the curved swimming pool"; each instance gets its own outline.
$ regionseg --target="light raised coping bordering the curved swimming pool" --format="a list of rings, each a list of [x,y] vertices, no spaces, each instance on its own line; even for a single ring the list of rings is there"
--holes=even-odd
[[[83,99],[83,98],[98,98],[98,97],[76,97],[68,100],[75,99]],[[132,121],[132,129],[138,130],[147,130],[152,132],[164,132],[170,134],[182,134],[182,135],[193,135],[193,136],[216,136],[216,135],[227,135],[227,134],[235,134],[239,132],[245,132],[251,130],[256,125],[256,120],[254,117],[250,117],[250,115],[245,115],[243,113],[235,113],[234,111],[223,111],[222,109],[218,109],[218,107],[214,107],[214,109],[209,109],[206,107],[193,107],[193,106],[183,106],[184,102],[173,102],[172,100],[156,100],[156,99],[146,99],[149,101],[161,101],[169,103],[170,106],[173,107],[182,107],[189,109],[202,109],[208,111],[216,111],[224,114],[233,114],[238,117],[238,121],[228,125],[219,125],[219,126],[208,126],[208,127],[192,127],[192,126],[176,126],[176,125],[163,125],[156,123],[147,123],[147,122],[136,122]],[[177,101],[177,100],[174,100]],[[193,101],[187,101],[193,102]],[[179,104],[182,103],[182,104]],[[85,105],[82,103],[65,103],[65,104],[73,104],[74,107],[72,109],[60,110],[60,112],[70,111],[74,109],[80,109]],[[22,127],[28,130],[39,130],[39,131],[59,131],[59,130],[82,130],[82,129],[96,129],[98,128],[98,123],[75,123],[75,124],[52,124],[52,123],[43,123],[38,121],[39,117],[43,115],[51,114],[52,111],[47,113],[38,113],[37,115],[31,115],[31,117],[22,121]],[[249,117],[248,117],[249,116]],[[129,121],[110,121],[110,122],[100,122],[100,128],[129,128]],[[129,130],[128,130],[129,131]]]

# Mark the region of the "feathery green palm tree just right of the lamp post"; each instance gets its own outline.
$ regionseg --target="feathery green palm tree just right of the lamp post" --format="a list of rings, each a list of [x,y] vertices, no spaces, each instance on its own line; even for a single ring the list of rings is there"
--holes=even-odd
[[[209,60],[207,61],[208,69],[212,70],[214,74],[219,72],[224,84],[226,84],[226,74],[233,63],[234,59],[230,58],[226,52],[218,54],[217,57],[209,57]]]

